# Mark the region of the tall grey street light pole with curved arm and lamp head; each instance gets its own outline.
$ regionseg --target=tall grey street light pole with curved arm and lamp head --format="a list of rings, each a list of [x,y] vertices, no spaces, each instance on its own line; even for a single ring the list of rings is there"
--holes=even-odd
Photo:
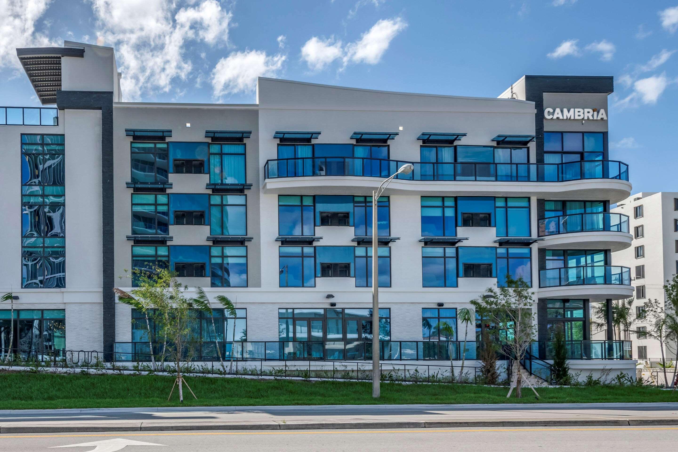
[[[401,166],[393,176],[384,180],[379,188],[372,192],[372,398],[381,394],[381,372],[379,369],[379,247],[378,247],[378,199],[386,190],[388,183],[400,173],[409,174],[414,169],[412,163]]]

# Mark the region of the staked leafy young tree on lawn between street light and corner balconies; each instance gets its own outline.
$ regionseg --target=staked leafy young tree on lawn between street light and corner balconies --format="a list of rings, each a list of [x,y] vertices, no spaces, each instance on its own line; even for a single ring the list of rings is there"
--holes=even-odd
[[[534,302],[530,285],[521,277],[513,279],[507,274],[505,286],[488,287],[486,292],[476,300],[471,300],[471,304],[481,314],[481,318],[490,319],[499,329],[506,331],[504,344],[511,351],[513,358],[520,363],[532,344],[537,328],[532,311]],[[523,381],[520,366],[516,366],[515,378],[516,396],[521,398]]]

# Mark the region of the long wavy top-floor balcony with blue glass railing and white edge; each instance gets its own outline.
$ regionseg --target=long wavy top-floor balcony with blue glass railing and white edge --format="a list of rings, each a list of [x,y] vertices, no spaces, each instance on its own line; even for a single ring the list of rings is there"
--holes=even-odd
[[[362,157],[300,157],[274,159],[264,165],[264,191],[279,194],[323,192],[369,193],[405,163],[414,171],[399,174],[389,190],[396,194],[447,194],[464,191],[477,196],[537,196],[559,199],[629,197],[629,167],[620,161],[569,163],[428,163]]]

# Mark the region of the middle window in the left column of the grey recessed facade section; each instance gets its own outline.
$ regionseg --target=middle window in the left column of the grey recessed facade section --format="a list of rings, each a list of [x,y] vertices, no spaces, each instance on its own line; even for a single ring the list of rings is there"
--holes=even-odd
[[[132,235],[169,234],[167,194],[132,194]]]

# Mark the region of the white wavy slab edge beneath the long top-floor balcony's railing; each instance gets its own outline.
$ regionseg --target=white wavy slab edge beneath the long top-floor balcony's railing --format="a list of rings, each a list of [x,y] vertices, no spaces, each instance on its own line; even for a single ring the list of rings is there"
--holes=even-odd
[[[382,178],[364,176],[313,176],[269,178],[262,184],[268,194],[372,194]],[[459,192],[469,196],[536,196],[547,199],[601,199],[617,203],[631,195],[631,182],[620,179],[580,179],[565,182],[493,182],[400,180],[388,186],[391,194],[450,196]]]

